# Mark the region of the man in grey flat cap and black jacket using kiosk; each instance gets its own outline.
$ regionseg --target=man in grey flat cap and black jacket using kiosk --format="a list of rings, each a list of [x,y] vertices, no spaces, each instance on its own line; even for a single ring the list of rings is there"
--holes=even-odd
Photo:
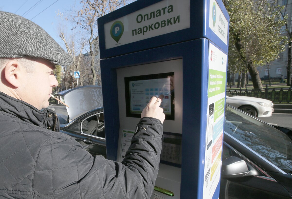
[[[150,198],[165,118],[161,99],[143,110],[123,164],[91,156],[59,132],[57,115],[46,109],[58,85],[55,64],[71,62],[41,27],[0,11],[0,198]]]

